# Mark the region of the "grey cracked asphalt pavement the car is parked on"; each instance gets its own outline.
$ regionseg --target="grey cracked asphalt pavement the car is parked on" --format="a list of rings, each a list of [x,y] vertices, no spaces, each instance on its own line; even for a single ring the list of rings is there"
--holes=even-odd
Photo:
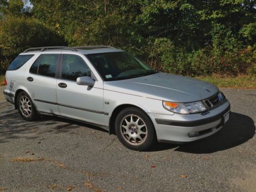
[[[217,134],[136,152],[88,124],[51,116],[27,122],[3,89],[0,190],[255,191],[256,90],[221,89],[232,113]]]

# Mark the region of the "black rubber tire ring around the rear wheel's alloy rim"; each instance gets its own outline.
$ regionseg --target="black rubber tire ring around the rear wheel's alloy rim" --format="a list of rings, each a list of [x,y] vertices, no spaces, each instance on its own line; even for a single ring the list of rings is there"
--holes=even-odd
[[[29,111],[31,111],[31,113],[30,112],[22,111],[22,109],[24,109],[24,107],[22,106],[22,103],[21,103],[22,101],[21,100],[24,99],[24,98],[27,98],[26,101],[28,103],[30,103],[30,105],[31,105],[30,107],[27,107],[27,111],[29,110]],[[33,121],[33,120],[35,120],[38,117],[37,112],[35,110],[35,105],[32,102],[32,99],[30,98],[30,96],[25,91],[22,91],[22,92],[20,92],[18,94],[17,100],[16,100],[16,106],[17,106],[19,115],[23,119],[25,119],[27,121]],[[29,105],[27,104],[27,106],[29,106]]]

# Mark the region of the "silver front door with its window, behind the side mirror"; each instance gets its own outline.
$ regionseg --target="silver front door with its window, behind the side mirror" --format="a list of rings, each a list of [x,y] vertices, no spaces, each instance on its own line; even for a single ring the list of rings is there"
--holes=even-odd
[[[95,81],[93,87],[76,83],[80,76],[93,76],[84,59],[75,54],[62,54],[57,80],[57,101],[61,116],[104,125],[103,83]]]

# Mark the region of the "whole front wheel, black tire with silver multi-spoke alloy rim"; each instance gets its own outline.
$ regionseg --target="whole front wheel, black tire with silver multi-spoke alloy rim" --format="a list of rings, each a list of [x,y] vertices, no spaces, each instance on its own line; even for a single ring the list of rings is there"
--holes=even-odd
[[[132,120],[127,123],[129,118],[132,118]],[[138,123],[135,122],[137,120]],[[144,124],[145,126],[143,126]],[[124,126],[128,128],[128,131],[124,128]],[[123,109],[115,119],[115,131],[119,141],[125,147],[130,148],[131,150],[145,151],[156,143],[154,124],[152,123],[150,117],[148,117],[147,114],[139,108],[129,107]],[[131,136],[136,137],[136,139],[134,140],[134,138],[130,138]],[[139,136],[141,139],[137,138],[137,136]]]

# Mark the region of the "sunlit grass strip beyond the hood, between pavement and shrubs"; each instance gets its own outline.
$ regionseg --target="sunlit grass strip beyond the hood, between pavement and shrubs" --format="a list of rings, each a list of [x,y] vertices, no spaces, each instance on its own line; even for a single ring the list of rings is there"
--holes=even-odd
[[[240,75],[237,77],[226,75],[198,76],[196,79],[210,82],[220,88],[256,89],[256,76]]]

